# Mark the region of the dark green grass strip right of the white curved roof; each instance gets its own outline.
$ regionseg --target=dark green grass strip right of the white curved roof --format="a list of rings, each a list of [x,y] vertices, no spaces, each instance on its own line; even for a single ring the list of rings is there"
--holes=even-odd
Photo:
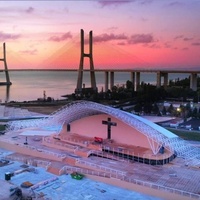
[[[180,138],[184,140],[192,140],[192,141],[200,141],[200,131],[185,131],[185,130],[177,130],[172,128],[167,128],[172,133],[178,135]]]

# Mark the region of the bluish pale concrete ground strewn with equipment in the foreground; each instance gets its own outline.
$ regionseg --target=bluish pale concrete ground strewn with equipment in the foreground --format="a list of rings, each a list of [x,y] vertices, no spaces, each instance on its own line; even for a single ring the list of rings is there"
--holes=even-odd
[[[0,149],[0,159],[4,156],[11,154],[11,151]],[[9,189],[11,186],[20,186],[21,183],[29,181],[33,184],[43,182],[52,178],[57,180],[45,184],[34,190],[38,194],[43,194],[45,199],[52,200],[158,200],[159,198],[148,196],[142,193],[134,192],[128,189],[122,189],[106,183],[94,181],[88,178],[83,178],[78,181],[72,179],[70,175],[56,176],[45,169],[35,167],[36,171],[23,172],[11,177],[11,180],[5,181],[6,172],[14,172],[24,168],[23,163],[11,162],[8,165],[0,167],[0,184],[1,189],[4,191],[1,200],[9,199]],[[30,166],[32,167],[32,166]],[[30,189],[26,189],[27,193]]]

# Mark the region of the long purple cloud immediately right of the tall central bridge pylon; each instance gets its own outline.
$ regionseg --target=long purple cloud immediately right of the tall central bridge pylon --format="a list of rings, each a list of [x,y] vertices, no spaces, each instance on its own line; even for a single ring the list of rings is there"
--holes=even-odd
[[[110,40],[126,40],[127,36],[124,34],[115,35],[113,33],[107,34],[104,33],[102,35],[94,37],[94,42],[107,42]]]

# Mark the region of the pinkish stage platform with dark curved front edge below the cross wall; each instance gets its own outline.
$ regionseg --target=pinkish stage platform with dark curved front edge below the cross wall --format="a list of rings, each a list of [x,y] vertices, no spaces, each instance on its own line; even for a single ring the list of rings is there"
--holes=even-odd
[[[150,165],[167,164],[175,158],[175,155],[164,149],[163,152],[154,155],[151,149],[116,143],[113,140],[95,142],[93,137],[78,134],[61,134],[60,136],[47,136],[43,144],[54,148],[71,150],[81,157],[98,156],[109,159],[127,159]]]

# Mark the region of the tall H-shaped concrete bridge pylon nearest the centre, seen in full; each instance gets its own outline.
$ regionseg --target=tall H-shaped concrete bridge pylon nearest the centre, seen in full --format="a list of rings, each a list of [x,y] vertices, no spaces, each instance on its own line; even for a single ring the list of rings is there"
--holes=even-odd
[[[84,91],[89,93],[97,92],[96,87],[96,78],[94,72],[94,62],[93,62],[93,38],[92,38],[92,31],[89,32],[89,53],[85,53],[84,51],[84,31],[81,29],[81,57],[80,57],[80,64],[78,70],[78,79],[77,79],[77,86],[75,89],[76,94],[82,94]],[[84,58],[87,57],[90,60],[90,80],[91,80],[91,88],[85,88],[83,85],[83,67],[84,67]]]

